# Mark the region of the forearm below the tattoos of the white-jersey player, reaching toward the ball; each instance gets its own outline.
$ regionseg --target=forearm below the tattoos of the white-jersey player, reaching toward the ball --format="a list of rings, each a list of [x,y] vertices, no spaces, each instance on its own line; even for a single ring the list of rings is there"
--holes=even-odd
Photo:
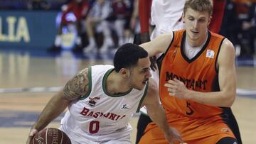
[[[57,118],[60,113],[65,110],[68,104],[68,99],[63,99],[59,93],[53,96],[48,104],[46,104],[46,107],[40,114],[38,121],[36,121],[36,123],[33,125],[33,128],[41,131],[41,129],[45,128],[50,123],[50,121],[53,121],[55,118]]]

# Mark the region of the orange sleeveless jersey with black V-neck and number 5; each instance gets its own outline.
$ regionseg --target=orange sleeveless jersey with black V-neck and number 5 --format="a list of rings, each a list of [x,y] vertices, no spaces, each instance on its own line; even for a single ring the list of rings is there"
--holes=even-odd
[[[224,38],[215,33],[209,33],[201,51],[189,60],[183,52],[185,37],[184,30],[174,32],[173,42],[161,63],[159,85],[164,86],[170,79],[176,78],[193,91],[219,91],[216,62]],[[207,118],[223,113],[223,109],[217,106],[208,106],[169,96],[166,87],[159,87],[159,93],[162,104],[170,113],[178,113],[191,118]]]

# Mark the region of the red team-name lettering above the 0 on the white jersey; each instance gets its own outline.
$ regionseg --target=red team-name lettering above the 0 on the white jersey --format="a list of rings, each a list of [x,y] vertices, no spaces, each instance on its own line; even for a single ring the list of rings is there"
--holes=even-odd
[[[126,115],[121,116],[121,115],[111,113],[111,112],[103,113],[103,112],[100,112],[100,111],[91,111],[90,109],[87,109],[85,107],[82,109],[80,114],[82,116],[89,116],[89,117],[94,117],[94,118],[105,117],[105,118],[108,118],[112,121],[119,121],[119,120],[121,120],[122,118],[124,118],[126,116]]]

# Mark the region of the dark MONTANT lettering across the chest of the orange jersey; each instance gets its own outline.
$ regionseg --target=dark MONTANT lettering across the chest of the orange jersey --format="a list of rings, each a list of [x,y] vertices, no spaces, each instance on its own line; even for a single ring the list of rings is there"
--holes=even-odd
[[[206,79],[186,79],[185,77],[180,77],[177,74],[166,72],[166,82],[170,79],[178,79],[185,84],[188,89],[206,89],[207,80]]]

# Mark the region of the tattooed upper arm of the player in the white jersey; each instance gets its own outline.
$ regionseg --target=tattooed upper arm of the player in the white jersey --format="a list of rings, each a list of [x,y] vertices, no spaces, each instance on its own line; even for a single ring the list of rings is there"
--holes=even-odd
[[[89,89],[88,68],[80,71],[65,84],[64,95],[69,100],[78,99],[85,95]]]

